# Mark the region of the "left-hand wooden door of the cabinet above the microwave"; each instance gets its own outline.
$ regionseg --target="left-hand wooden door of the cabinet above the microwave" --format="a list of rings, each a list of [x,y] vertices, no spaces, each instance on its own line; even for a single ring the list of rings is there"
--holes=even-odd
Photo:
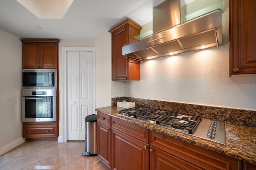
[[[23,68],[39,68],[39,43],[22,43]]]

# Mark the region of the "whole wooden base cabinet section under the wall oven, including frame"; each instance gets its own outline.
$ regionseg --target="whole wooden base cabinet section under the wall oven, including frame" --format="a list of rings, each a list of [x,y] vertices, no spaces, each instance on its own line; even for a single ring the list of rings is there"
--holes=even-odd
[[[56,122],[23,122],[22,129],[26,141],[58,141]]]

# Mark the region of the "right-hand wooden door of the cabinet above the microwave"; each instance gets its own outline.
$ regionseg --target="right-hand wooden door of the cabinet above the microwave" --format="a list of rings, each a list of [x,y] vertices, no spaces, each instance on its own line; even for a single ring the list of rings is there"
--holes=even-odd
[[[57,68],[57,56],[57,43],[40,43],[40,68]]]

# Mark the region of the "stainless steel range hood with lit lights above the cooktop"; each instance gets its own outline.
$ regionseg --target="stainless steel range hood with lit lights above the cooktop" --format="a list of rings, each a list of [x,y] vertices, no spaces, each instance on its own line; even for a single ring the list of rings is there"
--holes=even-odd
[[[172,8],[172,3],[176,3],[177,1],[179,1],[179,6],[179,4],[181,4],[180,0],[166,0],[162,4],[156,6],[156,10],[166,11],[166,8]],[[182,11],[181,8],[182,7],[180,6],[180,12]],[[122,47],[122,55],[129,59],[144,61],[200,50],[203,48],[203,45],[204,48],[218,47],[222,45],[222,11],[220,9],[210,11],[207,14],[180,22],[176,25],[171,25],[161,31],[157,30],[156,32],[154,28],[157,27],[157,25],[166,25],[163,18],[168,21],[172,20],[173,22],[173,16],[175,15],[178,16],[179,21],[182,20],[182,17],[177,15],[176,8],[170,9],[170,14],[166,15],[166,12],[163,13],[162,16],[154,17],[153,8],[154,33],[148,37],[124,45],[124,47]],[[170,16],[170,18],[166,18],[166,16]],[[161,23],[159,23],[159,21],[161,21]]]

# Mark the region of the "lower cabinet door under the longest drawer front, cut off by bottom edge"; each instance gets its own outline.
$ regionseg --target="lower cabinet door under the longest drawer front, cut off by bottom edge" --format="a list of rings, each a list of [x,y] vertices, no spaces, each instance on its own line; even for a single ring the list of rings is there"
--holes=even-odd
[[[150,147],[151,170],[202,170],[172,154]]]

